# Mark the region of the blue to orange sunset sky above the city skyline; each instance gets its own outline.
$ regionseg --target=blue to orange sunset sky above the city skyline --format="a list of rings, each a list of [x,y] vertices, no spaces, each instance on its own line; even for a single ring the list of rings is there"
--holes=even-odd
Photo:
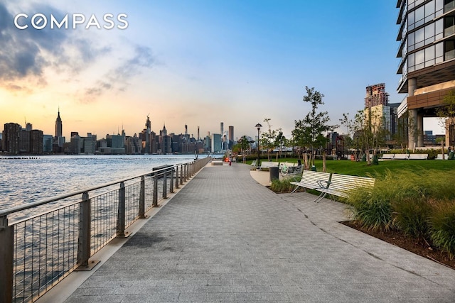
[[[270,119],[289,138],[311,109],[305,87],[324,95],[319,111],[339,124],[363,109],[369,85],[384,82],[390,102],[405,98],[396,92],[395,5],[0,0],[0,124],[27,122],[55,135],[60,110],[68,139],[72,131],[104,138],[122,128],[133,136],[147,116],[156,133],[164,125],[184,133],[188,125],[203,137],[220,133],[223,122],[240,138],[254,137],[258,122],[267,130]],[[51,22],[65,16],[67,28]],[[39,28],[40,18],[48,23],[36,29],[32,20]],[[424,119],[424,130],[444,133],[437,119]]]

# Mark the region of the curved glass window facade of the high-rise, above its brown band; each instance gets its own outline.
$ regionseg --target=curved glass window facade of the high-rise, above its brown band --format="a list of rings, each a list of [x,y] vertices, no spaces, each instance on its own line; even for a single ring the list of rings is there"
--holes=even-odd
[[[400,8],[399,74],[455,58],[455,0],[403,0]]]

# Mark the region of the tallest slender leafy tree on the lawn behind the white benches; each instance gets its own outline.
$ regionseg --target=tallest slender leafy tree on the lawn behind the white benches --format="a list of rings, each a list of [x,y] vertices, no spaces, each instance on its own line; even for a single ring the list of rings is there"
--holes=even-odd
[[[311,89],[305,87],[305,89],[306,96],[304,96],[303,101],[311,104],[311,111],[306,114],[304,119],[295,121],[295,128],[292,134],[301,147],[310,149],[310,160],[312,161],[312,165],[314,165],[316,148],[322,150],[323,160],[325,161],[326,150],[323,147],[326,146],[328,138],[326,138],[323,133],[333,131],[338,125],[328,125],[330,118],[328,117],[327,111],[318,112],[318,106],[324,104],[322,101],[324,95],[316,91],[314,87]]]

